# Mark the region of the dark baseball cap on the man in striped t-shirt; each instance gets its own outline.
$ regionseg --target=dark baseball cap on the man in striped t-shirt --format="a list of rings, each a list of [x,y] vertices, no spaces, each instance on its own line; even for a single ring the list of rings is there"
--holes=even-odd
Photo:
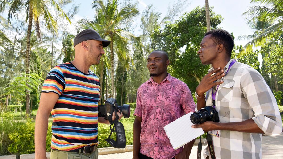
[[[98,40],[102,41],[103,48],[107,47],[110,44],[109,40],[105,40],[101,38],[101,36],[97,33],[97,31],[93,29],[85,29],[78,33],[74,39],[74,47],[86,40]]]

